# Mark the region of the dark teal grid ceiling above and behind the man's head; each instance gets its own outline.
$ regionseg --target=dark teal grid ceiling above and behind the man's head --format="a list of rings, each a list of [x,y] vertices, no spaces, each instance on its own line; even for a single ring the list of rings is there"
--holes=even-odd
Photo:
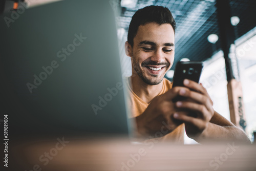
[[[240,23],[235,28],[238,38],[256,27],[256,1],[229,2],[231,16],[240,18]],[[119,27],[125,30],[123,41],[127,40],[127,30],[133,14],[149,5],[167,7],[176,20],[175,61],[172,69],[181,58],[204,61],[220,50],[220,40],[216,44],[210,44],[207,40],[209,34],[219,35],[215,0],[138,0],[135,8],[121,8],[118,22]]]

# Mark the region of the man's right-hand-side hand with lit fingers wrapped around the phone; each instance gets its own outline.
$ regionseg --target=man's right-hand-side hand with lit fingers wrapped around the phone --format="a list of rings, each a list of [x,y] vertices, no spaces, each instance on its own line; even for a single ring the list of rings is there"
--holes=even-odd
[[[188,110],[194,113],[193,116],[176,112],[174,118],[185,123],[186,134],[189,138],[196,138],[206,129],[215,111],[212,108],[213,102],[202,84],[185,79],[185,87],[180,90],[179,95],[186,97],[186,100],[177,101],[177,108],[181,111]],[[196,113],[196,116],[195,116]]]

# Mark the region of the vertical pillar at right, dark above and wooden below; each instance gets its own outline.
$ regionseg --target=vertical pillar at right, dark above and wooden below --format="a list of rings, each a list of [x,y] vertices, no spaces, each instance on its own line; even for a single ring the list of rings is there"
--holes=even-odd
[[[244,102],[242,86],[239,78],[235,78],[233,75],[231,53],[235,53],[232,44],[234,44],[235,34],[234,28],[230,23],[231,11],[228,0],[217,0],[216,1],[221,48],[223,50],[226,74],[227,74],[227,91],[228,91],[228,102],[230,111],[231,122],[246,131],[246,119],[244,114]],[[231,51],[230,51],[231,49]]]

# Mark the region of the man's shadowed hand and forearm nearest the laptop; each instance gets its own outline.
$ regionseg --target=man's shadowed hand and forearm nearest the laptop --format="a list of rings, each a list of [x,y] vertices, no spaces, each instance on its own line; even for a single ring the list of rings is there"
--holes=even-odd
[[[147,109],[135,118],[137,137],[155,137],[158,132],[164,136],[182,123],[173,118],[173,114],[178,110],[173,100],[179,95],[179,91],[180,87],[175,87],[155,97]]]

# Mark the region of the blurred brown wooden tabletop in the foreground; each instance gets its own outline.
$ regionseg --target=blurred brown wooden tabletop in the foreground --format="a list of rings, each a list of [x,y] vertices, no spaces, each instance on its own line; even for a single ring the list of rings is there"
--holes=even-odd
[[[256,170],[256,145],[236,142],[175,145],[123,138],[28,141],[12,145],[9,168],[18,170]],[[11,170],[13,170],[11,169]]]

